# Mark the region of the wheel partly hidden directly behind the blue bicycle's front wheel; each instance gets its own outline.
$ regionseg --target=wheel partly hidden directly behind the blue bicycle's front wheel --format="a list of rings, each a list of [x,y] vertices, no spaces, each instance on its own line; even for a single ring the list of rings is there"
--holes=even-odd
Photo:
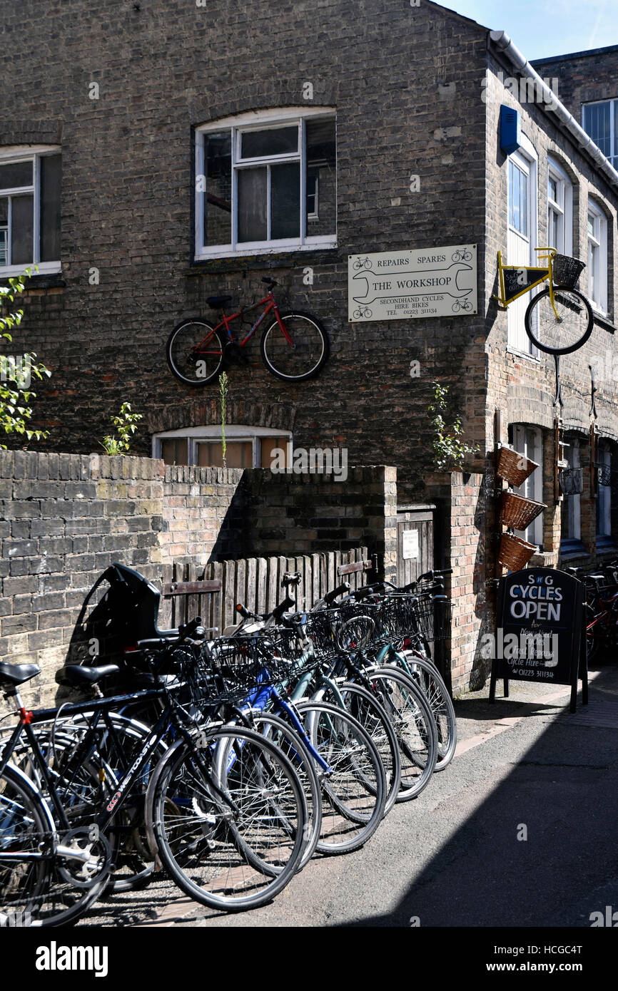
[[[336,690],[328,683],[323,684],[311,697],[311,701],[328,702],[333,706],[342,703],[346,712],[350,716],[354,716],[371,736],[380,754],[386,774],[386,802],[384,805],[384,815],[386,816],[395,805],[399,792],[401,757],[393,724],[377,698],[361,685],[352,685],[350,682],[346,682],[343,685],[337,685]]]

